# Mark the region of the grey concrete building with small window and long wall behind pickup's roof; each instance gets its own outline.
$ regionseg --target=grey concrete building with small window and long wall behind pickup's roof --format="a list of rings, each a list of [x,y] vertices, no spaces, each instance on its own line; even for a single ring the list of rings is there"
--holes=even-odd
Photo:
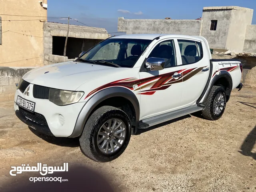
[[[256,53],[256,25],[251,25],[252,16],[253,10],[249,8],[204,7],[201,20],[118,18],[118,31],[200,35],[214,51]]]

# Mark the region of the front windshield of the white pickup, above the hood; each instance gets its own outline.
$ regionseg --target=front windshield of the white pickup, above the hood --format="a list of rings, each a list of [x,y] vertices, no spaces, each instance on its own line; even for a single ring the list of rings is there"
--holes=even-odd
[[[80,60],[120,67],[132,67],[151,40],[109,38],[96,45]]]

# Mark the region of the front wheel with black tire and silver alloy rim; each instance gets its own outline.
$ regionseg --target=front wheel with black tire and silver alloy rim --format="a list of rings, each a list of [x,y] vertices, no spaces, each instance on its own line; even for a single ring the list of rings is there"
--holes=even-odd
[[[111,120],[112,119],[112,120]],[[117,127],[115,132],[107,128],[109,125],[114,125],[116,120]],[[105,125],[105,126],[104,126]],[[106,131],[107,128],[107,131]],[[113,128],[114,130],[115,128]],[[120,135],[115,135],[116,132],[124,130]],[[104,134],[104,136],[102,136]],[[124,138],[123,140],[118,140]],[[84,154],[92,160],[98,162],[109,162],[118,158],[128,146],[131,137],[130,119],[127,114],[112,106],[102,106],[92,113],[87,120],[82,135],[80,136],[80,147]],[[100,143],[98,143],[102,140]],[[117,142],[116,142],[117,141]],[[118,142],[119,141],[119,142]],[[103,146],[105,143],[104,147]],[[118,144],[117,144],[118,143]],[[120,146],[121,144],[121,146]],[[119,146],[117,146],[119,145]],[[115,148],[114,148],[115,147]],[[112,151],[113,150],[113,151]]]

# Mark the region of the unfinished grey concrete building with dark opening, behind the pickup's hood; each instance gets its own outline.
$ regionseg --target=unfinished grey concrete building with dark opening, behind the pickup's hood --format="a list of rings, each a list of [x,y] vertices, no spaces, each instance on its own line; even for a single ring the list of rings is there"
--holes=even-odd
[[[68,25],[44,22],[44,64],[73,60],[78,55],[110,37],[104,28],[70,25],[66,48],[63,56]]]

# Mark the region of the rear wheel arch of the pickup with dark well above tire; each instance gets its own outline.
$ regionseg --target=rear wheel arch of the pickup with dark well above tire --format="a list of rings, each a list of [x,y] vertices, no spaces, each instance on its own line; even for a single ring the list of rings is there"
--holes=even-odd
[[[226,102],[228,102],[230,98],[230,93],[232,91],[233,82],[232,82],[232,77],[230,73],[223,70],[223,71],[220,71],[220,74],[214,76],[214,78],[212,79],[212,82],[210,83],[210,86],[206,92],[206,95],[202,103],[204,103],[207,100],[210,94],[210,91],[212,89],[212,86],[220,86],[220,85],[222,85],[226,90],[226,93],[225,93]]]

